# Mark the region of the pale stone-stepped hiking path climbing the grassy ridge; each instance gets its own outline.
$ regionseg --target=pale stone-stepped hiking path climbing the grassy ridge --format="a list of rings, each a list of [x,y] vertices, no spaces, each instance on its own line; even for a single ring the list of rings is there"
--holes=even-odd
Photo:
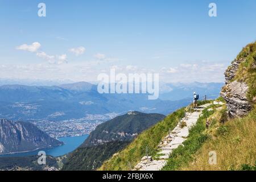
[[[189,129],[194,126],[199,119],[202,111],[210,106],[211,104],[205,104],[200,106],[199,109],[193,113],[186,113],[185,117],[181,119],[181,122],[185,122],[187,126],[181,128],[181,122],[177,124],[174,130],[171,131],[159,144],[158,160],[153,160],[151,157],[147,159],[144,156],[134,167],[134,171],[159,171],[167,164],[167,159],[171,155],[172,151],[183,145],[182,143],[186,140],[189,135]]]

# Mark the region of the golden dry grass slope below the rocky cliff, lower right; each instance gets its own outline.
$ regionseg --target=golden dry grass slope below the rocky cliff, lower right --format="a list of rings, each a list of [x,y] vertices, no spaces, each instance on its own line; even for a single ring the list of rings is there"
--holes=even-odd
[[[221,111],[215,117],[221,118]],[[182,170],[240,170],[256,169],[256,109],[243,118],[225,124],[215,123],[205,131],[209,139]],[[217,164],[210,165],[209,152],[216,151]],[[252,166],[252,167],[250,167]]]

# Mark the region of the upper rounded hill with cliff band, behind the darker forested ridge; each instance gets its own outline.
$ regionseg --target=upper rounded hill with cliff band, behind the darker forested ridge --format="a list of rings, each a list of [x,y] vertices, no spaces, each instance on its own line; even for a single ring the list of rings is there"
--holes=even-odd
[[[162,114],[145,114],[131,111],[98,125],[81,147],[107,143],[113,140],[131,140],[141,131],[161,121],[164,117]]]

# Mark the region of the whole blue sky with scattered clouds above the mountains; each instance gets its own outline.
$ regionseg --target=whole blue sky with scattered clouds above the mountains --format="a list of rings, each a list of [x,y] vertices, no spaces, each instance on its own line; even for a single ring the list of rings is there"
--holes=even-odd
[[[211,2],[217,17],[208,15]],[[0,77],[94,81],[114,67],[166,82],[223,81],[256,40],[255,9],[254,0],[1,0]],[[36,51],[19,47],[32,43]]]

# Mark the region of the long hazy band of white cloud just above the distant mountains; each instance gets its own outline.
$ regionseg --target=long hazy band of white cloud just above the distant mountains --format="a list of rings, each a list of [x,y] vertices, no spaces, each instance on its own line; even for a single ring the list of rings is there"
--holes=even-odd
[[[44,56],[48,57],[46,55]],[[0,64],[0,77],[17,79],[34,78],[39,80],[68,79],[73,81],[96,81],[98,74],[110,74],[110,68],[115,68],[116,74],[125,73],[128,75],[129,73],[159,73],[160,81],[165,82],[223,82],[223,74],[227,67],[226,64],[211,62],[209,64],[199,63],[197,65],[197,69],[193,69],[193,63],[191,63],[192,67],[189,68],[179,66],[172,68],[165,67],[160,70],[158,68],[154,68],[155,70],[151,70],[138,66],[135,71],[130,71],[130,69],[136,68],[136,66],[118,64],[99,66],[96,61],[61,64],[67,62],[67,58],[67,55],[54,56],[54,59],[51,59],[52,64],[48,64],[47,61],[40,64],[28,65],[24,65],[22,63],[20,63],[20,65]]]

